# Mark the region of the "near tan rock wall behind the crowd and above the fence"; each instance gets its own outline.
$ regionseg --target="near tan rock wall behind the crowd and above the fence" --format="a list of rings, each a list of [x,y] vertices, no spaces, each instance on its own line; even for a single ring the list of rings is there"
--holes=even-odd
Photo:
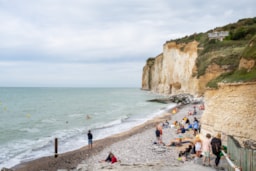
[[[248,139],[256,141],[256,82],[221,84],[204,95],[203,134],[222,132],[233,135],[241,144]]]

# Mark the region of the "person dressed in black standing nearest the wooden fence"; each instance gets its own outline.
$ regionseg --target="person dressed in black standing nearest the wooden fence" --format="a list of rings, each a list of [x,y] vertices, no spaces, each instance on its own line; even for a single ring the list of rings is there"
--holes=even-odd
[[[211,146],[212,146],[212,153],[216,156],[215,159],[215,167],[218,168],[218,165],[220,163],[220,153],[221,153],[221,134],[218,133],[216,137],[214,137],[211,141]]]

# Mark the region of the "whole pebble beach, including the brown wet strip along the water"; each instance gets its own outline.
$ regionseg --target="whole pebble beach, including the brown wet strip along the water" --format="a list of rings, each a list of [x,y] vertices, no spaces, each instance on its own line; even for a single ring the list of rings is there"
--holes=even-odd
[[[175,171],[210,171],[215,170],[213,167],[205,167],[200,164],[200,160],[195,162],[194,159],[181,161],[178,153],[184,150],[187,145],[181,147],[166,146],[171,141],[178,138],[187,138],[193,140],[194,136],[191,131],[185,134],[177,134],[176,129],[163,128],[163,144],[154,144],[156,141],[155,125],[166,120],[170,125],[174,121],[181,121],[187,116],[191,122],[194,117],[200,120],[203,111],[198,110],[196,115],[188,116],[193,111],[192,104],[181,106],[178,112],[173,114],[170,110],[160,117],[150,120],[143,125],[137,126],[130,131],[117,134],[102,140],[95,141],[93,149],[87,146],[60,155],[58,158],[45,157],[36,161],[23,163],[13,168],[17,171],[29,170],[54,170],[54,171],[105,171],[105,170],[175,170]],[[99,162],[105,160],[109,152],[112,152],[118,159],[117,163],[111,164]],[[213,163],[214,157],[212,158]]]

